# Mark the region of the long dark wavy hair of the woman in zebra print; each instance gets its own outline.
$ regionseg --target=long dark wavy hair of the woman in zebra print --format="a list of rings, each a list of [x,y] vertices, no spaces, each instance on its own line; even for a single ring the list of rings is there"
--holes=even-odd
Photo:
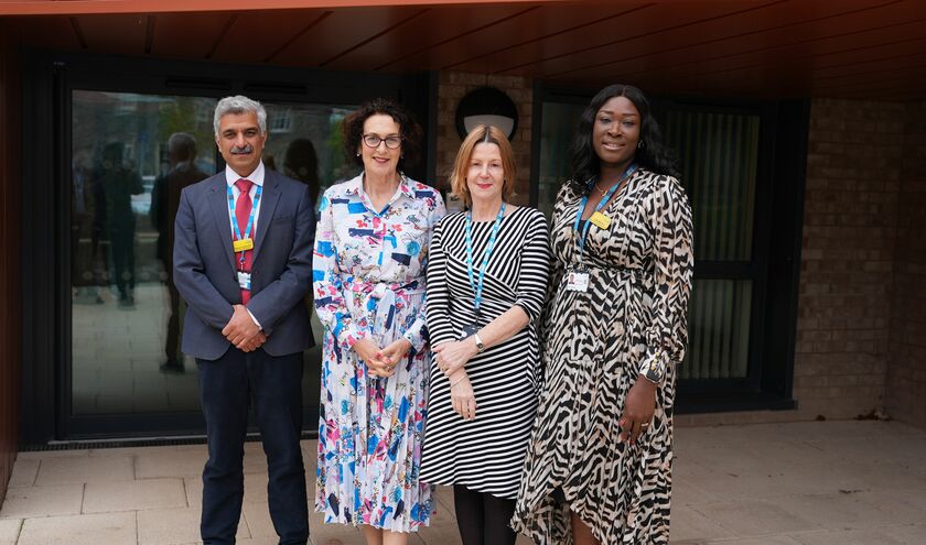
[[[672,151],[663,143],[663,133],[659,131],[659,123],[653,117],[649,101],[642,90],[632,85],[610,85],[600,90],[585,107],[582,117],[579,119],[579,128],[575,130],[575,139],[569,150],[572,160],[572,179],[569,184],[572,189],[584,195],[589,192],[586,182],[596,178],[601,174],[601,160],[595,153],[592,144],[592,130],[595,124],[595,116],[605,102],[614,97],[624,97],[636,106],[639,111],[640,146],[636,151],[636,163],[642,167],[657,174],[668,174],[679,177]]]

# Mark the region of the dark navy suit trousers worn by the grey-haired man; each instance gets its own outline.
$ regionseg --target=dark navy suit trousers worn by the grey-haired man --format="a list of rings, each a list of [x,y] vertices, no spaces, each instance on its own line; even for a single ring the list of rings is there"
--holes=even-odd
[[[273,357],[232,347],[196,359],[209,459],[203,470],[204,544],[234,544],[245,494],[244,442],[252,403],[267,455],[270,517],[281,544],[309,538],[302,432],[302,353]]]

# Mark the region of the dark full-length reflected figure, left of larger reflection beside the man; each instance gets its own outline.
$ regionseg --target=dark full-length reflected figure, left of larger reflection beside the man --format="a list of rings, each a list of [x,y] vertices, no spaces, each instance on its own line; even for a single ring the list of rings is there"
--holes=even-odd
[[[134,307],[134,233],[136,217],[132,195],[141,195],[141,176],[123,163],[122,142],[103,149],[99,179],[106,195],[106,221],[109,250],[112,255],[112,279],[119,292],[119,307]]]

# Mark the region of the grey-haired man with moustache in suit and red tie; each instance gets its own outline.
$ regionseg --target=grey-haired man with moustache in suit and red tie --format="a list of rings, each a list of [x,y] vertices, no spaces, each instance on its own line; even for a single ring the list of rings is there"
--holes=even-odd
[[[313,203],[305,184],[265,168],[267,112],[259,102],[222,99],[214,126],[226,167],[183,189],[173,251],[174,283],[189,305],[182,349],[200,370],[209,451],[202,537],[235,543],[250,405],[280,544],[305,544],[299,439],[302,351],[313,345],[302,303],[312,276]]]

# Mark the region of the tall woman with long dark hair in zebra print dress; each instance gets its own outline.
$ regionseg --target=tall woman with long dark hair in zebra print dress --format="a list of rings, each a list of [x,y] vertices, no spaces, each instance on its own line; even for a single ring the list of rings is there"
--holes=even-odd
[[[602,89],[571,153],[552,224],[545,384],[513,525],[541,545],[667,544],[691,211],[639,89]]]

